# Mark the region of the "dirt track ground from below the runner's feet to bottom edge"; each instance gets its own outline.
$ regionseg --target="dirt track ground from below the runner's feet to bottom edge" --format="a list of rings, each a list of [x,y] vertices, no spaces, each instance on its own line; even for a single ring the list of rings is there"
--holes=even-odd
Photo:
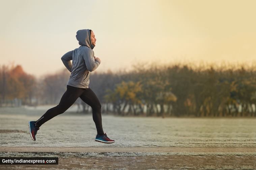
[[[100,154],[84,156],[82,152]],[[129,155],[127,152],[160,152],[162,155]],[[165,155],[167,152],[171,154]],[[256,170],[256,147],[0,147],[0,154],[59,158],[58,165],[1,165],[0,170]]]

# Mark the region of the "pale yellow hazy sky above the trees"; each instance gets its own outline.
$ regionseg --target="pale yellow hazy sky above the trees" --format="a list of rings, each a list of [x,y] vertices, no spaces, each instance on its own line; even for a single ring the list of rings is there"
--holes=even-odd
[[[41,76],[64,67],[91,29],[97,72],[136,64],[252,63],[254,0],[0,0],[0,65]]]

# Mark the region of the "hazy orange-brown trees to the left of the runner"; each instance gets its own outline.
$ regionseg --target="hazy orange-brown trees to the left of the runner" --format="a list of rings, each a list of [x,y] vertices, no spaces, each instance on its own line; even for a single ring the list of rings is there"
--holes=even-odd
[[[24,72],[20,65],[0,66],[0,106],[57,103],[69,77],[66,70],[40,79]],[[17,102],[18,101],[18,102]]]

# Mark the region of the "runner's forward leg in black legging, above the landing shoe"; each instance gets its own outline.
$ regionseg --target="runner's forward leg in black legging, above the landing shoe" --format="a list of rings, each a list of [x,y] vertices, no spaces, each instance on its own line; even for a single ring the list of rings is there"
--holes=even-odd
[[[101,118],[101,103],[97,96],[90,88],[88,88],[83,92],[80,98],[92,108],[92,118],[96,125],[97,134],[104,135]]]

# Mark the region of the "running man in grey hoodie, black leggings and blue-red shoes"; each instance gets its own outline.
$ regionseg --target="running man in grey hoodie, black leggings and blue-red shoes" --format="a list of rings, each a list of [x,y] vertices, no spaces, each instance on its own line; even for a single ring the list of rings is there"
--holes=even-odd
[[[89,88],[90,72],[94,71],[101,64],[101,60],[94,56],[92,50],[96,44],[95,35],[92,30],[84,29],[77,31],[76,38],[81,46],[61,57],[63,64],[71,72],[67,82],[67,90],[57,106],[47,110],[37,121],[28,122],[30,136],[35,141],[37,130],[39,130],[42,124],[58,114],[64,113],[80,97],[92,108],[92,118],[97,129],[95,141],[114,143],[115,141],[109,139],[103,131],[101,103]],[[70,60],[72,60],[72,63]]]

